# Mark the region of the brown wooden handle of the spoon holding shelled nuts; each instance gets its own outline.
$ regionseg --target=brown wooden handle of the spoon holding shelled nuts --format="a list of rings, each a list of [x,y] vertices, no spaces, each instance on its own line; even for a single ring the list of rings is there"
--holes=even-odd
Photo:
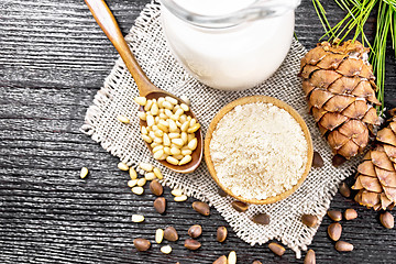
[[[146,96],[150,91],[160,90],[150,81],[143,69],[139,66],[121,33],[114,15],[111,13],[105,0],[85,0],[85,2],[94,14],[94,18],[99,26],[103,30],[105,34],[114,45],[121,58],[125,63],[127,68],[136,82],[140,95]]]

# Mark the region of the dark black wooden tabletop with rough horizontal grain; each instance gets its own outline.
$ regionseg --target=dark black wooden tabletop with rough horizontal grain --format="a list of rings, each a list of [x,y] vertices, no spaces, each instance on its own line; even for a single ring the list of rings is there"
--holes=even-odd
[[[109,0],[127,34],[148,0]],[[324,2],[324,1],[323,1]],[[343,13],[326,1],[330,22]],[[373,32],[375,18],[369,31]],[[322,34],[311,2],[296,12],[296,34],[308,48]],[[369,34],[372,37],[372,34]],[[117,53],[80,0],[0,0],[0,263],[211,263],[237,250],[239,263],[302,263],[290,250],[274,256],[265,245],[242,242],[221,216],[191,209],[194,199],[176,204],[165,189],[168,209],[160,217],[154,196],[134,196],[118,160],[78,130],[94,95],[110,73]],[[396,107],[396,64],[387,54],[386,105]],[[90,174],[79,178],[81,166]],[[352,178],[349,179],[352,182]],[[386,230],[373,211],[336,195],[332,209],[358,210],[359,218],[342,221],[342,240],[354,244],[338,253],[326,233],[328,218],[310,246],[318,263],[395,263],[396,231]],[[131,215],[142,213],[143,223]],[[189,226],[204,227],[202,248],[187,251]],[[145,253],[134,238],[154,241],[157,228],[174,226],[180,240],[163,255],[153,244]],[[224,243],[216,230],[230,232]]]

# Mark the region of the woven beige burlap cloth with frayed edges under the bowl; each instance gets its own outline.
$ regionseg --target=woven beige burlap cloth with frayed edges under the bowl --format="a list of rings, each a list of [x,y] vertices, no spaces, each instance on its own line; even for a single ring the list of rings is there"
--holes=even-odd
[[[352,162],[341,168],[331,165],[331,151],[308,114],[301,84],[297,78],[300,58],[306,54],[305,47],[294,41],[280,68],[264,84],[245,91],[220,91],[198,82],[175,61],[167,48],[160,14],[158,2],[147,4],[125,38],[140,65],[156,86],[190,99],[204,133],[215,114],[227,103],[245,96],[272,96],[289,103],[301,114],[310,129],[314,148],[323,157],[324,166],[312,168],[302,186],[288,198],[273,205],[252,205],[246,212],[235,211],[231,207],[232,198],[218,195],[218,187],[205,162],[195,173],[182,175],[170,172],[151,157],[140,136],[138,107],[133,102],[138,88],[120,58],[106,78],[105,86],[95,96],[81,130],[129,165],[136,166],[140,162],[148,162],[161,167],[164,185],[182,188],[188,196],[208,201],[243,241],[254,245],[277,239],[293,249],[299,257],[300,250],[307,250],[318,229],[304,226],[300,221],[301,215],[316,215],[321,222],[340,182],[352,174],[354,165]],[[125,125],[118,121],[119,114],[130,118],[131,124]],[[258,212],[271,216],[268,226],[251,221]]]

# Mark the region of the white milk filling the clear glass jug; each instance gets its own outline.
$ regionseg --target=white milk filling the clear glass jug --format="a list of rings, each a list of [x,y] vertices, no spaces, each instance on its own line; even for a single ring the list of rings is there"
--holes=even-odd
[[[241,10],[246,10],[252,4],[261,7],[258,3],[264,2],[265,6],[274,1],[162,2],[163,26],[172,52],[193,76],[210,87],[222,90],[252,88],[271,77],[289,51],[295,22],[293,8],[277,16],[248,18],[243,21],[240,19],[234,24],[223,26],[220,24],[221,18],[232,21],[242,12]],[[265,9],[262,7],[261,11]],[[178,15],[178,10],[184,10],[182,15],[186,15],[187,19]],[[252,12],[250,11],[250,14]],[[195,16],[196,23],[188,21]],[[202,19],[211,20],[211,23],[201,23]],[[219,26],[216,23],[219,23]]]

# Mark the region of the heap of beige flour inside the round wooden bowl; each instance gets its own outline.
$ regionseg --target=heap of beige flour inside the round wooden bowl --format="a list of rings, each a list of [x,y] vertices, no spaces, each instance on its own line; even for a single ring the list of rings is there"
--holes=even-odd
[[[210,142],[221,184],[246,199],[266,199],[297,184],[308,144],[297,121],[272,103],[238,106],[218,123]]]

